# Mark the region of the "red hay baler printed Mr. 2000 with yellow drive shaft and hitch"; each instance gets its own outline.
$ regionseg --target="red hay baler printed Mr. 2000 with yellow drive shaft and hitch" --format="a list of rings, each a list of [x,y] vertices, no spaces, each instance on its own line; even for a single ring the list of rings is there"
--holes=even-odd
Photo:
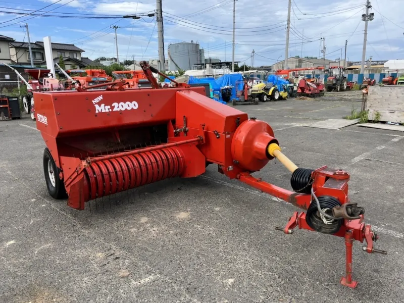
[[[160,88],[151,74],[159,71],[141,65],[150,89],[125,89],[125,82],[118,81],[103,90],[34,92],[52,197],[67,194],[70,207],[84,210],[89,200],[171,177],[196,177],[214,163],[230,179],[306,211],[293,213],[284,228],[276,229],[291,234],[298,227],[344,237],[341,284],[357,285],[351,278],[354,240],[366,241],[363,249],[369,253],[386,254],[373,246],[378,237],[364,223],[364,209],[348,198],[347,172],[297,168],[282,154],[266,122],[206,97],[204,87],[174,82],[174,87]],[[291,172],[293,191],[252,176],[275,158]]]

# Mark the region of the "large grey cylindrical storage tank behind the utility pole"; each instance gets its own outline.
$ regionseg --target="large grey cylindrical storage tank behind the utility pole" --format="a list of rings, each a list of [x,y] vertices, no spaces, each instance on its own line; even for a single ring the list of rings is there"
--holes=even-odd
[[[168,45],[168,58],[168,70],[190,70],[200,62],[199,44],[193,41],[172,43]]]

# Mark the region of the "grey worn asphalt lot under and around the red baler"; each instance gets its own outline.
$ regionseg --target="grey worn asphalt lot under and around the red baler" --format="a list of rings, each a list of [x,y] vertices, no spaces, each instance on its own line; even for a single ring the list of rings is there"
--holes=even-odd
[[[359,92],[237,107],[267,121],[298,166],[344,168],[350,198],[380,235],[354,244],[357,289],[339,285],[342,238],[285,235],[296,209],[229,180],[170,179],[76,211],[46,190],[35,122],[0,122],[0,302],[402,302],[404,134],[304,125],[360,108]],[[255,173],[290,188],[271,162]]]

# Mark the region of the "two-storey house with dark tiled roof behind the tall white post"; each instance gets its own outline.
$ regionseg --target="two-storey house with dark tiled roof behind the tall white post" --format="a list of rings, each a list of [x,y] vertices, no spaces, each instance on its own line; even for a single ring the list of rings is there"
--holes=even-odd
[[[9,41],[10,60],[13,64],[31,65],[29,46],[27,42]],[[32,61],[34,66],[45,66],[45,50],[43,42],[36,41],[31,43]],[[52,43],[52,56],[55,63],[59,63],[62,56],[66,69],[83,68],[92,65],[92,60],[82,57],[83,49],[74,44]]]

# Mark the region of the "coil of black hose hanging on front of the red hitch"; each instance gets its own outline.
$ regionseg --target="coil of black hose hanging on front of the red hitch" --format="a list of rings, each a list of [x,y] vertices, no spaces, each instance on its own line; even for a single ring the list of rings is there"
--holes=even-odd
[[[331,209],[333,207],[341,206],[338,199],[332,196],[328,195],[319,196],[318,199],[320,202],[321,209],[324,208],[329,209],[329,211],[326,211],[326,214],[329,215],[332,215]],[[325,224],[317,214],[318,214],[317,203],[315,200],[313,200],[309,206],[309,209],[306,212],[306,223],[315,231],[325,234],[334,234],[341,228],[343,220],[334,220],[331,224]]]

